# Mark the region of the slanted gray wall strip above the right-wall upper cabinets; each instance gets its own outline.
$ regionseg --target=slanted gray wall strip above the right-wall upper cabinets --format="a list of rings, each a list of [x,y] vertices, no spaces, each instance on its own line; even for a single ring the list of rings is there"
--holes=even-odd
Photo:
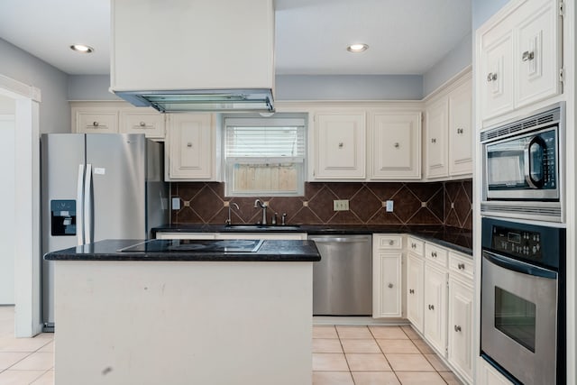
[[[462,69],[472,64],[472,34],[468,34],[453,50],[423,75],[423,96],[429,95]]]

